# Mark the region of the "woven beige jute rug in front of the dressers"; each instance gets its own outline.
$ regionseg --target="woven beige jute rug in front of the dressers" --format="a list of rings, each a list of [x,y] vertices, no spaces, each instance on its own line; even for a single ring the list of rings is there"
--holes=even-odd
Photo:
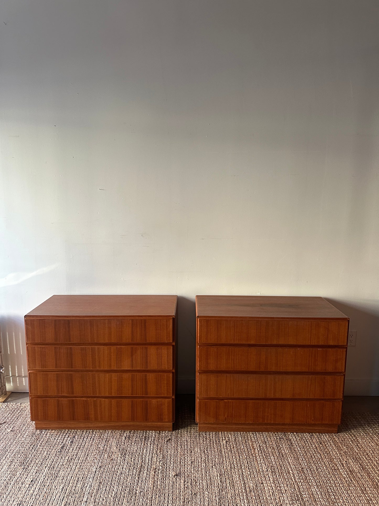
[[[28,404],[0,404],[4,506],[306,506],[379,503],[379,415],[339,434],[35,431]]]

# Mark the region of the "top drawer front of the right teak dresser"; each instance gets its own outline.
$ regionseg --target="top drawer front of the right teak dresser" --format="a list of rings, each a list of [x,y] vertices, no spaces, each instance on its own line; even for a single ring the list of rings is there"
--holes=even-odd
[[[198,318],[199,344],[346,346],[347,320]]]

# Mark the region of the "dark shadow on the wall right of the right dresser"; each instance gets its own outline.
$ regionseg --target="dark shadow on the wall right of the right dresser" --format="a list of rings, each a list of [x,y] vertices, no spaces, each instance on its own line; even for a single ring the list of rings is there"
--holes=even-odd
[[[379,395],[379,300],[346,303],[326,299],[350,318],[357,331],[356,346],[349,346],[345,395]]]

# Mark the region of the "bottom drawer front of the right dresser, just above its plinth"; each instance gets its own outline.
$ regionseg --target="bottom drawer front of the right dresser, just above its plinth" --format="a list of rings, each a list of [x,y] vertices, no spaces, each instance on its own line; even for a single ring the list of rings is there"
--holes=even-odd
[[[199,399],[199,423],[339,424],[342,401]]]

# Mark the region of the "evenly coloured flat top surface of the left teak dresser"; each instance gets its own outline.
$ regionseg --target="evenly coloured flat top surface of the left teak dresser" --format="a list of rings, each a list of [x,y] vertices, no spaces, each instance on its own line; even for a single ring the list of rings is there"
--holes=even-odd
[[[176,295],[53,295],[26,316],[173,317]]]

